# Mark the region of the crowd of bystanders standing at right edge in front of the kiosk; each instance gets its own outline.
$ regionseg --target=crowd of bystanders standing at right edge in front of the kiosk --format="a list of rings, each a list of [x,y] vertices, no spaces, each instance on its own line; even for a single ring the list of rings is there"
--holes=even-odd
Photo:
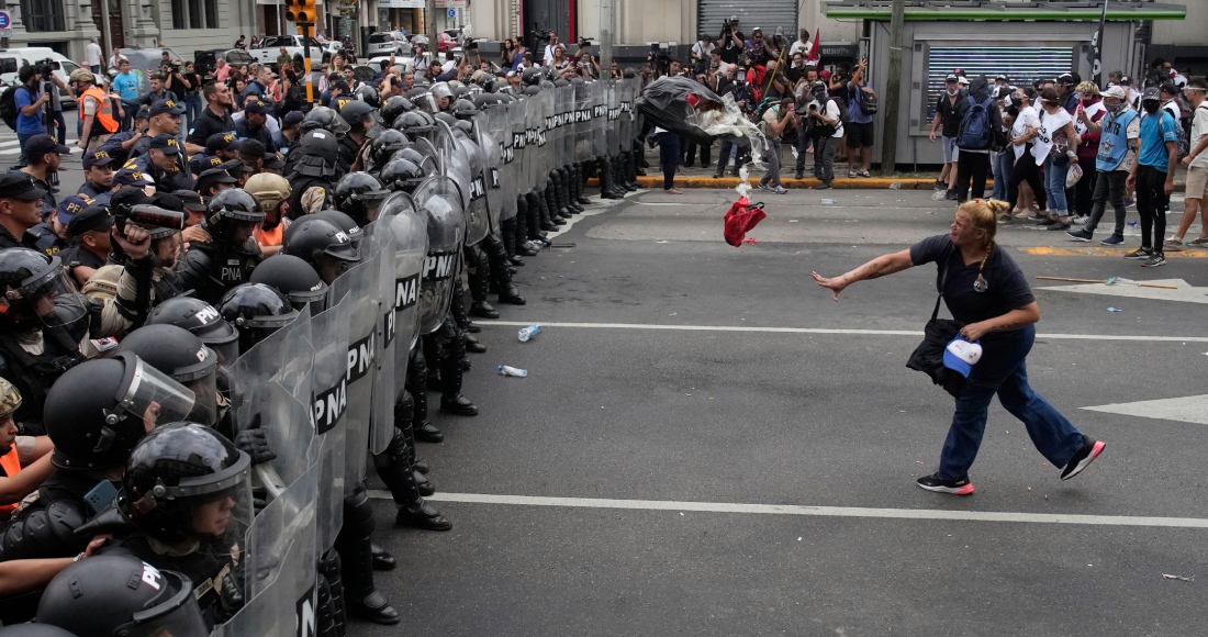
[[[1079,242],[1093,238],[1110,204],[1115,222],[1103,245],[1126,242],[1127,208],[1136,205],[1142,241],[1125,259],[1166,265],[1165,253],[1183,249],[1208,196],[1208,82],[1161,63],[1155,70],[1139,89],[1121,71],[1102,89],[1073,71],[1028,86],[1004,75],[991,83],[948,74],[931,124],[931,140],[943,144],[936,189],[951,201],[981,198],[993,175],[991,197],[1014,205],[1000,222],[1030,222]],[[1166,237],[1180,164],[1185,208]],[[1203,232],[1186,243],[1208,245]]]

